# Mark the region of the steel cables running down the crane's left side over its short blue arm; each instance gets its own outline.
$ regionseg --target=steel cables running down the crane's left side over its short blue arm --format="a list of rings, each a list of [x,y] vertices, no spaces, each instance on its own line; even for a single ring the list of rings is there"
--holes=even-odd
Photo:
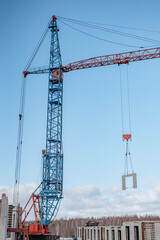
[[[38,44],[36,45],[26,67],[25,71],[30,68],[42,42],[44,41],[48,32],[48,26],[45,28]],[[24,107],[25,107],[25,95],[26,95],[26,76],[22,76],[22,86],[21,86],[21,97],[20,97],[20,109],[19,109],[19,123],[18,123],[18,139],[17,139],[17,149],[16,149],[16,166],[15,166],[15,181],[14,181],[14,192],[13,192],[13,205],[18,205],[19,200],[19,184],[20,184],[20,169],[21,169],[21,153],[22,153],[22,138],[23,138],[23,123],[24,123]]]

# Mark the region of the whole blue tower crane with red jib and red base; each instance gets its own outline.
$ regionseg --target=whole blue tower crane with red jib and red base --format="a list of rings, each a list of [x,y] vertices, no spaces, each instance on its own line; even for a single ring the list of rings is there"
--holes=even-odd
[[[33,200],[36,230],[45,232],[47,226],[56,214],[60,200],[63,197],[63,148],[62,148],[62,110],[63,110],[63,73],[73,70],[88,69],[94,67],[121,65],[130,62],[160,58],[160,47],[143,49],[138,51],[117,53],[99,57],[93,57],[81,61],[62,65],[60,44],[58,37],[57,18],[52,16],[48,28],[51,31],[50,62],[48,68],[38,68],[34,71],[25,69],[24,79],[30,74],[49,74],[48,107],[47,107],[47,132],[46,149],[42,150],[43,172],[42,181],[29,201]],[[23,112],[19,114],[20,128]],[[22,131],[20,131],[22,132]],[[21,140],[21,136],[20,136]],[[22,141],[18,141],[22,144]],[[21,149],[17,146],[17,151]],[[20,154],[19,154],[20,158]],[[20,161],[20,160],[18,160]],[[15,182],[15,186],[16,186]],[[28,202],[29,202],[28,201]],[[23,212],[26,211],[28,203]],[[31,208],[24,217],[25,222]],[[39,221],[38,221],[39,219]],[[44,231],[45,229],[45,231]],[[30,232],[33,228],[30,228]]]

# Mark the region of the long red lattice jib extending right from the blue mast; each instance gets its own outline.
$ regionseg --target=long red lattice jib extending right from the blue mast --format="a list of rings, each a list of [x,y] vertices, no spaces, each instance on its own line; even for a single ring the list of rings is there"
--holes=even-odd
[[[93,57],[69,63],[68,65],[63,66],[62,68],[64,72],[70,72],[72,70],[87,69],[114,64],[120,65],[129,62],[136,62],[153,58],[160,58],[160,47]]]

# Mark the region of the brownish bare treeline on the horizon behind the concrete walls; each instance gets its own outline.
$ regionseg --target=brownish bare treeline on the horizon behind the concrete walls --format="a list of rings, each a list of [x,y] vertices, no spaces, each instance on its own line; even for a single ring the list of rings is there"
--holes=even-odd
[[[55,220],[50,224],[50,232],[52,234],[60,235],[60,237],[72,237],[77,235],[77,227],[84,226],[88,221],[97,221],[99,226],[122,226],[123,222],[128,221],[160,221],[159,216],[121,216],[121,217],[102,217],[102,218],[72,218]]]

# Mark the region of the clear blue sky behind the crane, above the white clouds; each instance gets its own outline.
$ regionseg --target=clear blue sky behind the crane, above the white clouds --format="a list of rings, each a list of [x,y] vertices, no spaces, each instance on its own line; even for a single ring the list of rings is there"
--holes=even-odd
[[[22,72],[51,16],[160,31],[159,7],[159,1],[144,0],[1,1],[0,186],[12,188],[14,184]],[[58,26],[63,65],[93,56],[137,50],[90,38],[59,21]],[[157,40],[160,37],[160,32],[117,30]],[[89,29],[84,28],[83,31],[88,32]],[[120,43],[151,45],[97,30],[90,31]],[[33,67],[47,63],[49,46],[50,34]],[[126,68],[121,67],[124,81]],[[108,66],[64,74],[64,190],[67,193],[78,186],[94,186],[99,191],[121,186],[125,144],[122,142],[119,72],[118,66]],[[159,59],[131,63],[128,73],[133,133],[130,145],[138,176],[138,189],[129,190],[129,194],[134,195],[138,194],[137,191],[149,191],[150,182],[157,186],[160,182]],[[47,84],[47,75],[29,76],[27,80],[21,168],[21,184],[24,186],[40,182],[41,150],[45,147],[46,134]]]

